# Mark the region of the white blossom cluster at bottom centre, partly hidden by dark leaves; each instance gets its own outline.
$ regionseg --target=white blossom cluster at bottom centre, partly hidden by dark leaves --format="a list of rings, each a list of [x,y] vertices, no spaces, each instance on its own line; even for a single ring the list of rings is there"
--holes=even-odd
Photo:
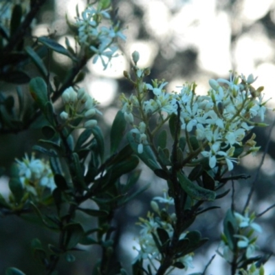
[[[156,201],[159,201],[159,203],[164,203],[166,207],[170,205],[174,205],[173,198],[168,197],[166,192],[164,192],[164,197],[154,197],[153,201],[151,201],[151,206],[154,212],[158,216],[160,216],[161,213],[159,211],[159,206]],[[161,261],[162,255],[157,249],[157,245],[155,244],[155,241],[153,239],[153,234],[157,236],[157,228],[162,228],[166,230],[166,232],[168,233],[168,236],[172,238],[173,232],[174,232],[172,223],[175,221],[175,219],[176,219],[175,213],[169,214],[169,218],[166,221],[164,221],[160,217],[155,217],[154,214],[151,212],[148,212],[147,219],[143,219],[140,217],[139,225],[142,227],[142,230],[140,230],[140,234],[138,237],[139,247],[138,248],[134,247],[134,250],[137,250],[138,254],[137,254],[137,257],[133,260],[133,262],[141,259],[148,260],[150,261],[151,265],[153,265],[153,267],[157,269],[157,266],[155,266],[155,263]],[[185,236],[186,236],[185,233],[181,234],[180,239],[184,239]],[[192,255],[193,254],[190,253],[190,254],[181,256],[175,259],[175,262],[182,263],[184,265],[184,270],[188,270],[188,268],[193,268]]]

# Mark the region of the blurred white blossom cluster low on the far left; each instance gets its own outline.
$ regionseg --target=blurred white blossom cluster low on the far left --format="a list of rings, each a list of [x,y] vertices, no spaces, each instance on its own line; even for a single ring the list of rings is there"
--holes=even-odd
[[[16,162],[21,184],[34,195],[41,188],[50,188],[51,191],[56,188],[50,164],[44,159],[36,159],[34,154],[29,158],[26,154],[22,161],[16,159]]]

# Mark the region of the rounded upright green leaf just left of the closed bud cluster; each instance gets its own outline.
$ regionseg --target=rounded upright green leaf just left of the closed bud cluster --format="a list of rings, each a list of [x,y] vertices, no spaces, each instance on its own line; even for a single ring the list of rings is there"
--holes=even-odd
[[[36,77],[30,80],[30,94],[34,101],[39,105],[41,111],[45,111],[45,104],[49,101],[47,85],[43,78]]]

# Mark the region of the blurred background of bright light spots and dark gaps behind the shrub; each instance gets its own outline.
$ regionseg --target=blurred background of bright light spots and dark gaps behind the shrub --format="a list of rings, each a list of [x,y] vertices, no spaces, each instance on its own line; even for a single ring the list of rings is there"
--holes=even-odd
[[[3,2],[5,1],[0,1],[0,4]],[[65,45],[66,36],[73,41],[74,36],[67,27],[65,14],[73,22],[76,5],[81,12],[86,3],[81,0],[46,1],[36,18],[32,34],[41,36],[55,32],[54,37],[59,43]],[[206,94],[210,78],[228,79],[229,71],[234,70],[246,76],[258,76],[254,86],[265,87],[265,100],[274,97],[274,0],[118,0],[112,1],[112,5],[113,11],[118,9],[118,17],[127,37],[126,43],[120,43],[120,55],[113,58],[111,66],[106,70],[103,70],[100,63],[93,64],[89,61],[85,68],[85,80],[80,84],[80,87],[85,87],[100,102],[100,111],[103,113],[100,125],[106,129],[106,136],[115,113],[121,107],[119,95],[122,92],[128,95],[133,92],[133,87],[122,73],[124,70],[130,72],[131,53],[134,50],[140,52],[138,65],[151,67],[147,82],[165,78],[169,83],[167,91],[179,91],[184,83],[195,81],[198,85],[197,93]],[[70,65],[72,63],[69,58],[54,53],[50,61],[51,74],[62,77]],[[6,93],[12,92],[16,87],[1,82],[0,85],[1,91]],[[61,102],[56,102],[56,108],[60,105]],[[269,100],[267,106],[270,109],[275,107],[275,97]],[[273,120],[274,113],[268,111],[267,123],[272,125]],[[258,144],[262,146],[261,151],[256,157],[245,157],[241,165],[234,169],[234,175],[250,175],[248,179],[234,182],[234,196],[236,210],[243,210],[250,186],[255,181],[250,210],[261,213],[275,201],[275,129],[270,126],[254,131]],[[259,177],[255,179],[270,131],[270,146],[263,166],[259,169]],[[40,136],[41,133],[35,127],[17,134],[2,133],[0,166],[8,168],[14,158],[21,158],[24,153],[30,154]],[[151,187],[120,209],[114,221],[119,232],[118,250],[124,255],[122,265],[128,270],[131,260],[136,256],[132,248],[137,245],[134,238],[140,230],[135,223],[138,217],[145,217],[151,198],[162,195],[166,188],[165,182],[155,178],[143,164],[140,164],[140,168],[142,176],[139,185],[151,183]],[[0,178],[0,192],[3,194],[8,192],[7,183],[8,174]],[[231,183],[228,183],[227,188],[230,187]],[[195,254],[195,268],[188,270],[186,274],[202,272],[210,258],[217,254],[215,250],[219,245],[222,219],[230,208],[231,201],[229,193],[226,199],[214,203],[220,209],[207,212],[192,225],[192,229],[200,230],[210,241]],[[264,252],[275,250],[274,213],[272,209],[258,220],[264,232],[259,236],[259,246]],[[34,237],[45,240],[45,243],[56,241],[52,232],[32,223],[26,224],[19,217],[0,219],[0,274],[9,266],[17,266],[26,274],[40,274],[39,265],[30,263],[30,241]],[[81,248],[87,251],[78,252],[75,263],[61,263],[59,274],[91,274],[97,251]],[[274,262],[272,256],[265,265],[266,274],[275,272]],[[207,274],[229,274],[228,272],[228,265],[217,255]],[[175,271],[173,274],[183,273]]]

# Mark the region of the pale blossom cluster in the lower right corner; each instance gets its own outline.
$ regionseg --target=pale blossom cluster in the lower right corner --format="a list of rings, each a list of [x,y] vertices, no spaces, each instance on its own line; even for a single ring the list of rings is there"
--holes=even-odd
[[[248,214],[248,211],[245,212],[244,215],[239,214],[238,212],[234,212],[234,217],[237,223],[237,231],[238,234],[234,234],[234,237],[238,239],[237,247],[239,250],[244,251],[245,258],[250,259],[254,252],[256,251],[256,236],[253,236],[253,233],[262,232],[261,226],[257,223],[254,223],[255,214]],[[219,250],[222,251],[219,251]],[[222,236],[221,244],[219,245],[219,249],[217,251],[219,255],[223,257],[229,263],[232,262],[234,257],[234,252],[230,249],[230,246],[227,243],[226,237]]]

